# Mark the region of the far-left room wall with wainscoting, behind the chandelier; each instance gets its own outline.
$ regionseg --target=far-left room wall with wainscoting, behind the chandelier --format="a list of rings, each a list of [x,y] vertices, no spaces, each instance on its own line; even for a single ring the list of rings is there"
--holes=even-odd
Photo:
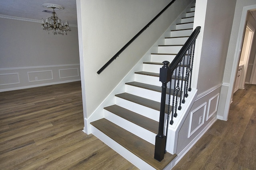
[[[53,35],[37,22],[0,22],[0,91],[80,80],[77,27]]]

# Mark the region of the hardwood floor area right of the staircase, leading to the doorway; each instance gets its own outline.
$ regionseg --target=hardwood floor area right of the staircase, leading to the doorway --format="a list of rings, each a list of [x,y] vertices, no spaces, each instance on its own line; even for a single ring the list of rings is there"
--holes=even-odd
[[[228,121],[217,120],[173,170],[256,170],[256,85],[234,94]]]

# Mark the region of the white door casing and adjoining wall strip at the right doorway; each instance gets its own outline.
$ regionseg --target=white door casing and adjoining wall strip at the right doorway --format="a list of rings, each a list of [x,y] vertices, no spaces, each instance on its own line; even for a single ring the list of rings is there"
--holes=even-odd
[[[228,45],[228,53],[223,74],[223,86],[220,94],[220,106],[218,108],[218,118],[228,119],[228,111],[233,93],[234,81],[239,63],[240,51],[242,49],[242,35],[246,21],[247,10],[256,8],[255,0],[237,0],[234,12],[232,31]]]

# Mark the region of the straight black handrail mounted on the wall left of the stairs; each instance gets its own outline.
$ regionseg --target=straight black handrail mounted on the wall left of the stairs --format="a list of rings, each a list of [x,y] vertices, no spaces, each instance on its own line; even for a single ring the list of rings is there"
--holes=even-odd
[[[164,11],[166,11],[167,8],[174,3],[174,1],[176,0],[172,0],[172,2],[170,2],[161,12],[159,12],[155,18],[153,18],[145,27],[143,27],[140,32],[138,32],[128,43],[126,43],[126,45],[124,45],[124,47],[122,47],[122,49],[120,49],[104,66],[102,66],[97,73],[100,74],[105,68],[107,68],[107,66],[112,63],[136,38],[138,38],[138,36],[140,36],[140,34],[142,34],[142,32],[145,31]]]

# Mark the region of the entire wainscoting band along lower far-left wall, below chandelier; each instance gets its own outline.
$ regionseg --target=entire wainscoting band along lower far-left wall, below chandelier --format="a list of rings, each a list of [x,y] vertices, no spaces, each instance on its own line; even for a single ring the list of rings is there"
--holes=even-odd
[[[0,92],[80,80],[80,64],[0,68]]]

